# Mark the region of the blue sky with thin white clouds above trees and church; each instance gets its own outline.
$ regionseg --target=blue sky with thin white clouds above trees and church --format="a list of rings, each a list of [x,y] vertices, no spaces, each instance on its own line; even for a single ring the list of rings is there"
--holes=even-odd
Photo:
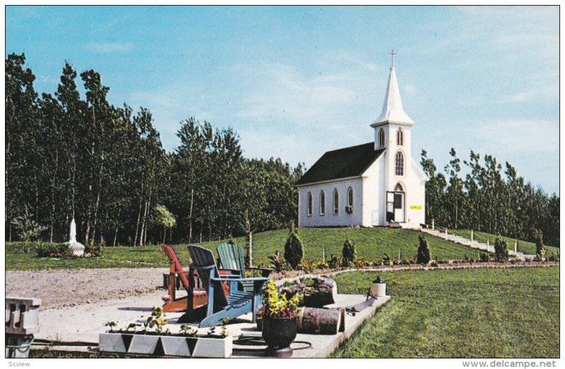
[[[391,48],[415,159],[472,148],[559,193],[557,6],[6,7],[6,53],[25,52],[38,91],[69,60],[150,109],[167,150],[195,116],[246,157],[307,167],[373,140]]]

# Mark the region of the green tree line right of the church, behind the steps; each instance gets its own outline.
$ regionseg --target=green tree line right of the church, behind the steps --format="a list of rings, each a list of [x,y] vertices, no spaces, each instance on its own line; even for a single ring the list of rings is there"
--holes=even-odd
[[[448,229],[474,229],[535,241],[541,231],[545,243],[559,247],[559,196],[547,195],[526,183],[509,162],[470,151],[469,159],[450,151],[450,161],[439,170],[422,150],[426,184],[426,222]],[[462,167],[468,170],[463,176]]]

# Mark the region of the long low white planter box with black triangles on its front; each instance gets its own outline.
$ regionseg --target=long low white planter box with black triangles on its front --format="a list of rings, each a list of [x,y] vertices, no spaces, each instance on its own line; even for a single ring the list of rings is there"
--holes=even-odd
[[[228,337],[156,336],[133,333],[101,333],[101,352],[143,353],[186,358],[229,358],[233,339]]]

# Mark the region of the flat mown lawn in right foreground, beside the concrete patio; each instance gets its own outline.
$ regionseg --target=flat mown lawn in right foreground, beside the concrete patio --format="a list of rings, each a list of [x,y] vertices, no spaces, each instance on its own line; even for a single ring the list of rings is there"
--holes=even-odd
[[[352,272],[365,294],[379,274],[392,296],[334,358],[559,357],[559,267]]]

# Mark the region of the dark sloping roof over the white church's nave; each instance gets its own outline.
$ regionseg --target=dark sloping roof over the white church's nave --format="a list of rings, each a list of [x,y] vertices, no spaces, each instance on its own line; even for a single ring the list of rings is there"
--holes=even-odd
[[[385,149],[375,150],[375,143],[328,151],[298,180],[298,185],[355,177],[363,174]]]

